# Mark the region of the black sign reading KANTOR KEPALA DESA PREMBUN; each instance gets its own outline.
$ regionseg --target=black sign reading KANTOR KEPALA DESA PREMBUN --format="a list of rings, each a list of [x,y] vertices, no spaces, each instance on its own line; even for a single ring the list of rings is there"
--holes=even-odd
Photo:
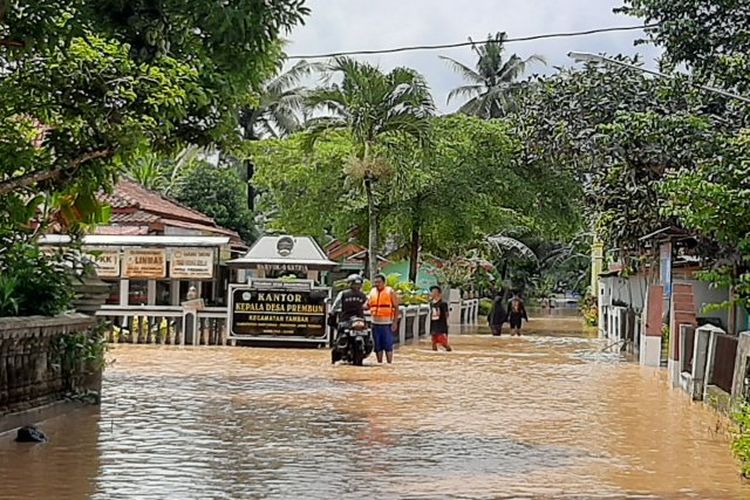
[[[232,289],[231,334],[319,338],[326,334],[326,294],[317,290]]]

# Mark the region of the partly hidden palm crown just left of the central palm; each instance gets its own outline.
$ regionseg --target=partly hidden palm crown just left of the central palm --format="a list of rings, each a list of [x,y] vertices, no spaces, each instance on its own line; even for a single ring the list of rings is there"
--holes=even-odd
[[[266,82],[260,92],[260,103],[240,111],[240,125],[245,139],[283,137],[301,129],[305,89],[300,83],[319,69],[320,64],[299,61]]]

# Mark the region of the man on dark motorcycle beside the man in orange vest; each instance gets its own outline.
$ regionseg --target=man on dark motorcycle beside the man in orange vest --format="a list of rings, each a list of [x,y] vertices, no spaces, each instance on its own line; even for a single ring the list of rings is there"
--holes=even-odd
[[[361,364],[362,359],[372,352],[372,339],[369,331],[367,331],[364,345],[360,349],[362,352],[356,352],[356,354],[350,350],[352,346],[349,345],[349,342],[352,341],[352,338],[349,334],[355,322],[361,324],[360,332],[365,328],[364,316],[368,307],[368,300],[367,295],[362,292],[363,280],[361,276],[352,274],[347,278],[347,281],[349,289],[338,294],[331,308],[333,324],[336,325],[336,340],[333,343],[331,361],[335,363],[344,359],[354,364]],[[362,345],[361,342],[360,345]]]

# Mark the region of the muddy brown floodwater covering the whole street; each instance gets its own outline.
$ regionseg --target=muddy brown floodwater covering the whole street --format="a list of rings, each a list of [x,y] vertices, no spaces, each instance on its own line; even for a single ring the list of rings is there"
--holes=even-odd
[[[570,325],[362,368],[119,346],[101,408],[0,436],[0,498],[750,498],[723,418]]]

